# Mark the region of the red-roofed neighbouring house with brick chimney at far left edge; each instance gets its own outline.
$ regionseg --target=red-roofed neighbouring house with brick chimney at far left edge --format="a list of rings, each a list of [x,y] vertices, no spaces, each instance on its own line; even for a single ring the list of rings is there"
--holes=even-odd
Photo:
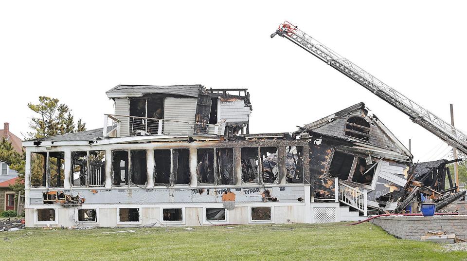
[[[0,137],[11,142],[13,148],[22,153],[21,139],[10,132],[10,124],[3,123],[3,130],[0,130]],[[10,185],[15,184],[18,179],[18,172],[10,169],[8,164],[0,161],[0,210],[16,210],[15,191],[10,189]]]

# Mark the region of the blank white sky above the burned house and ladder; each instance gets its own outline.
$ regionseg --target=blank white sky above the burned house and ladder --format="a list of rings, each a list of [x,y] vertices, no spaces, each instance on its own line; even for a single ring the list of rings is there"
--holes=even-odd
[[[17,135],[39,95],[88,130],[113,111],[117,84],[248,88],[251,132],[295,126],[363,101],[414,161],[449,147],[408,116],[285,38],[288,20],[389,86],[467,130],[467,3],[462,1],[1,1],[0,123]],[[2,125],[0,126],[2,128]]]

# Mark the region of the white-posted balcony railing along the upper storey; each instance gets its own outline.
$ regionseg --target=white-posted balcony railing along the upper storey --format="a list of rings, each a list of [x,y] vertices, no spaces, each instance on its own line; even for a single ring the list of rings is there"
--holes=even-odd
[[[104,114],[104,136],[120,137],[120,128],[123,121],[128,123],[129,136],[145,135],[224,135],[225,120],[217,124],[185,122],[148,117]],[[109,125],[109,120],[113,122]],[[108,126],[116,126],[108,130]],[[126,124],[124,125],[126,126]]]

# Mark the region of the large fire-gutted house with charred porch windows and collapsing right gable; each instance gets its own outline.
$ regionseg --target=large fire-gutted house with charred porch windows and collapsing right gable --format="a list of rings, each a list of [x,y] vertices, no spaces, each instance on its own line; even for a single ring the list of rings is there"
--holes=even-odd
[[[351,221],[405,193],[412,155],[363,103],[251,134],[246,89],[107,95],[102,129],[23,142],[27,226]]]

